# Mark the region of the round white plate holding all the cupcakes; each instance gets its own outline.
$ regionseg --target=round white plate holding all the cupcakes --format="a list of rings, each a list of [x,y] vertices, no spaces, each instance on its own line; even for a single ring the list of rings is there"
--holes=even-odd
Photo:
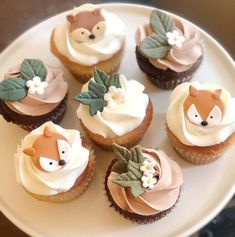
[[[233,147],[222,159],[195,166],[177,157],[164,129],[169,91],[160,90],[145,78],[135,59],[134,35],[139,24],[148,22],[152,8],[129,4],[104,4],[126,24],[126,51],[120,72],[146,86],[154,103],[154,119],[141,144],[159,147],[175,157],[183,169],[184,185],[177,206],[161,220],[149,225],[132,224],[109,207],[104,192],[104,174],[112,154],[96,148],[96,172],[88,190],[67,204],[39,202],[27,195],[15,180],[13,154],[27,132],[0,118],[0,208],[19,228],[33,236],[188,236],[210,221],[228,202],[235,191],[235,159]],[[0,78],[12,65],[24,58],[41,58],[60,65],[51,54],[49,37],[53,28],[63,22],[67,13],[52,17],[28,30],[0,55]],[[211,81],[229,89],[235,96],[234,65],[225,50],[207,33],[200,30],[205,43],[205,57],[193,81]],[[80,129],[76,118],[78,103],[73,96],[81,85],[65,70],[69,79],[68,110],[61,125]]]

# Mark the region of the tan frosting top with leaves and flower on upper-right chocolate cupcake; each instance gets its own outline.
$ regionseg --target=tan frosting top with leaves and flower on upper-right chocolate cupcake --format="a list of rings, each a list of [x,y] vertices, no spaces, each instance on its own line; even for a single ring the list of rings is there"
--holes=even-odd
[[[183,72],[202,56],[197,29],[185,20],[154,10],[150,23],[138,27],[136,43],[141,54],[156,68]]]

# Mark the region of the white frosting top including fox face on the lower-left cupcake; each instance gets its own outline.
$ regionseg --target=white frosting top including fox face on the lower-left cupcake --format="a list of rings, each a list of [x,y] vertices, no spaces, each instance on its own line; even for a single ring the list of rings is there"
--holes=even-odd
[[[49,138],[50,149],[43,149],[47,146],[43,136]],[[57,144],[53,143],[54,140]],[[66,164],[56,162],[58,157],[63,158]],[[88,159],[89,151],[82,146],[78,131],[47,122],[33,130],[18,146],[15,154],[17,180],[31,193],[55,195],[68,191],[74,185],[85,170]]]

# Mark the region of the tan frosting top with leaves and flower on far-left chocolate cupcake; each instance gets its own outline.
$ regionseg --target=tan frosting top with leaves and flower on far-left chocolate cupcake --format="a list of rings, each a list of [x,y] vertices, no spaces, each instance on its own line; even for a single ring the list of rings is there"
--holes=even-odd
[[[0,98],[19,114],[49,113],[67,94],[68,85],[62,74],[62,70],[45,65],[41,60],[25,59],[5,75],[0,85]]]

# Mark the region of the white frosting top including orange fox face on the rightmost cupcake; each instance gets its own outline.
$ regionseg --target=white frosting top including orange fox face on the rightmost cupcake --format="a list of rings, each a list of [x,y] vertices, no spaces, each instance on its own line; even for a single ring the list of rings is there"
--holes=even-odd
[[[172,92],[167,126],[185,145],[216,145],[235,131],[234,106],[235,99],[224,88],[183,83]]]

